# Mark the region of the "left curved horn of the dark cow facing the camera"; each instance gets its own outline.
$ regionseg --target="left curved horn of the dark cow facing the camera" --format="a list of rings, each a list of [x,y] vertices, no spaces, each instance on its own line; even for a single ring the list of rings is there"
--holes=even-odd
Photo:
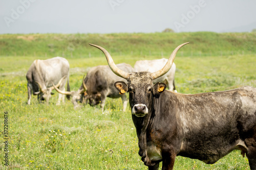
[[[90,44],[90,43],[89,43]],[[108,61],[108,64],[110,66],[110,69],[114,72],[114,74],[116,74],[117,76],[127,79],[129,77],[129,74],[121,69],[119,69],[116,64],[114,63],[111,55],[109,54],[108,51],[106,51],[103,47],[98,46],[98,45],[94,45],[94,44],[90,44],[92,46],[95,46],[96,48],[99,48],[99,50],[101,50],[104,55],[106,56],[106,60]]]

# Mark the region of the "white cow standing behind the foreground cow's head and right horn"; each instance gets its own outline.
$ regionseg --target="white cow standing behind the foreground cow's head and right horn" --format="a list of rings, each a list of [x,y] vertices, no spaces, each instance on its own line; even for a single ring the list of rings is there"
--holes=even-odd
[[[141,71],[156,72],[157,70],[163,68],[163,66],[167,61],[168,59],[166,58],[162,58],[158,60],[139,60],[139,61],[136,61],[136,63],[134,64],[134,69],[136,72],[141,72]],[[175,63],[173,63],[170,70],[165,75],[155,79],[153,83],[166,82],[166,85],[170,91],[177,92],[174,84],[175,70],[176,70],[176,65]]]

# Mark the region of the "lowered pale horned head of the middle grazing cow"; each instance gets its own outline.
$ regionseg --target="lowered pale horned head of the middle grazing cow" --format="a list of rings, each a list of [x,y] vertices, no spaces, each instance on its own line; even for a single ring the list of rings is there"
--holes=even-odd
[[[77,107],[80,107],[78,102],[81,101],[82,94],[87,90],[86,84],[84,83],[84,76],[82,79],[82,85],[83,85],[83,89],[80,89],[77,91],[62,91],[62,90],[58,89],[56,86],[54,86],[54,84],[53,84],[53,87],[60,94],[71,95],[71,102],[73,103],[74,108],[77,108]]]

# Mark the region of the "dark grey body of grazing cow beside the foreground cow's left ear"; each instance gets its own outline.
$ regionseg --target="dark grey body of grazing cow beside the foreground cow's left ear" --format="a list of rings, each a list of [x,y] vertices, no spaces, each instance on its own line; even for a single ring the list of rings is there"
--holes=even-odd
[[[117,67],[125,70],[126,72],[132,72],[134,69],[130,64],[121,63],[117,64]],[[109,98],[122,98],[123,111],[126,110],[127,99],[125,95],[119,94],[119,91],[114,87],[116,81],[125,81],[125,79],[116,76],[108,65],[99,65],[92,67],[84,79],[87,91],[84,95],[84,101],[91,106],[100,104],[102,111],[104,110],[106,97]],[[83,84],[79,90],[83,89]]]

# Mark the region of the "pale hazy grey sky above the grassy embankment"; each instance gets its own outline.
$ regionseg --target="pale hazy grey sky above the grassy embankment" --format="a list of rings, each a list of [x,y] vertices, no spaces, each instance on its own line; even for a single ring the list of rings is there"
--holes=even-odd
[[[0,0],[0,34],[250,32],[256,0]]]

